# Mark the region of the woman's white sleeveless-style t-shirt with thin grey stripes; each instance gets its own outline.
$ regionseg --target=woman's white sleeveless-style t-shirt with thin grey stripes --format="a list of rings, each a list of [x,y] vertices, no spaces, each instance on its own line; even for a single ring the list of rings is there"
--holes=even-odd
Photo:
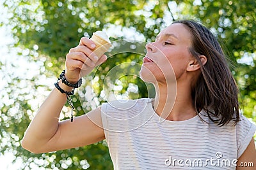
[[[147,98],[104,103],[101,110],[114,169],[236,169],[256,130],[243,116],[236,126],[220,127],[204,111],[164,120]]]

